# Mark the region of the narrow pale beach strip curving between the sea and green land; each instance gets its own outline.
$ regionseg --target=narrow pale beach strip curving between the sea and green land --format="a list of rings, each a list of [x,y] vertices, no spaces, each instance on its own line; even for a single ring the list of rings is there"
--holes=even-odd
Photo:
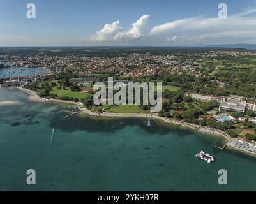
[[[14,89],[19,89],[20,91],[24,91],[27,94],[29,94],[29,99],[32,101],[40,101],[40,102],[53,102],[53,103],[70,103],[73,105],[82,105],[82,103],[80,102],[74,102],[74,101],[64,101],[64,100],[59,100],[59,99],[45,99],[45,98],[40,98],[40,96],[38,96],[35,92],[29,90],[29,89],[25,89],[22,87],[17,87]],[[93,113],[91,112],[91,110],[87,109],[87,108],[80,108],[82,113],[86,113],[87,115],[93,116],[93,117],[126,117],[126,118],[150,118],[150,119],[157,119],[157,120],[162,120],[163,122],[166,122],[168,124],[175,124],[175,125],[179,125],[179,126],[184,126],[186,128],[191,128],[195,131],[200,131],[202,133],[209,133],[209,134],[215,134],[215,135],[222,135],[227,144],[227,142],[229,142],[230,140],[230,136],[227,135],[227,133],[225,133],[224,131],[221,131],[219,129],[214,129],[214,128],[210,128],[210,127],[206,127],[206,126],[200,126],[200,125],[196,125],[196,124],[189,124],[187,122],[182,122],[179,120],[174,120],[174,119],[167,119],[167,118],[163,118],[160,117],[158,115],[151,115],[151,114],[144,114],[144,113]]]

